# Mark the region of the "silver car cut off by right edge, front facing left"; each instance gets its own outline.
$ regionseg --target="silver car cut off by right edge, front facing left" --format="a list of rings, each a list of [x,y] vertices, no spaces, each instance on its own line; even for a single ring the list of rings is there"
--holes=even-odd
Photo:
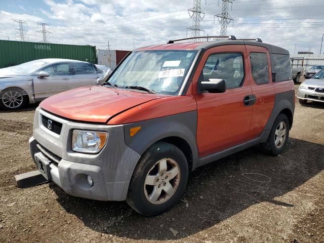
[[[306,104],[308,100],[324,102],[324,69],[299,86],[297,98],[301,104]]]

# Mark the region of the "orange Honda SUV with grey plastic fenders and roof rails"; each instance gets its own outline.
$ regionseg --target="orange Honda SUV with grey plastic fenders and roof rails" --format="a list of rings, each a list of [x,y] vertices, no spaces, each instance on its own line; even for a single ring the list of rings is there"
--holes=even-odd
[[[70,195],[153,216],[199,166],[257,144],[280,154],[295,109],[289,52],[222,37],[139,48],[101,86],[44,100],[29,139],[38,170]]]

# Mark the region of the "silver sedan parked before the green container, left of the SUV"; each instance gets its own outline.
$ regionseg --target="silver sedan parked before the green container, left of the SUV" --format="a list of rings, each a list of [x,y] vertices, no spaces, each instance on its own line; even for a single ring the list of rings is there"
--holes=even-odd
[[[14,110],[57,93],[102,84],[110,69],[69,59],[38,59],[0,69],[0,108]]]

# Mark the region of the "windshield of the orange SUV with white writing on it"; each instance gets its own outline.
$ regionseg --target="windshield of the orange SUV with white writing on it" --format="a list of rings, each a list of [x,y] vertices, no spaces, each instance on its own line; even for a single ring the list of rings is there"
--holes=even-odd
[[[133,52],[109,77],[117,88],[144,87],[160,94],[178,95],[197,51]]]

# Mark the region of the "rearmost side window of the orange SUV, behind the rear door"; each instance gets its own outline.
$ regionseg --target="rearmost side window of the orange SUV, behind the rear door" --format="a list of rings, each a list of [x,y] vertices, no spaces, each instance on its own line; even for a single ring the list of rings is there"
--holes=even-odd
[[[289,55],[271,54],[272,72],[275,72],[275,82],[292,79],[292,67]]]

